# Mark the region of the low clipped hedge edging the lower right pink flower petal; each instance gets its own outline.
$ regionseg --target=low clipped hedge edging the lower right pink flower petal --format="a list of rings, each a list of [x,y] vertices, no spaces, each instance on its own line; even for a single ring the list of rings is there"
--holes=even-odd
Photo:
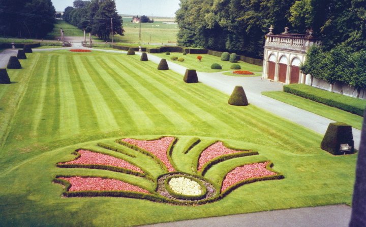
[[[269,162],[268,165],[266,166],[266,169],[269,170],[269,171],[271,171],[271,172],[277,173],[277,175],[257,177],[257,178],[250,178],[250,179],[246,179],[246,180],[239,181],[236,184],[231,185],[230,187],[228,187],[224,192],[222,192],[220,194],[220,196],[219,196],[220,199],[222,199],[225,196],[227,196],[229,193],[231,193],[232,191],[234,191],[236,188],[238,188],[238,187],[240,187],[242,185],[248,184],[248,183],[254,183],[254,182],[263,181],[263,180],[280,180],[280,179],[285,178],[284,175],[282,175],[281,173],[279,173],[279,172],[277,172],[277,171],[275,171],[275,170],[272,169],[273,163],[271,161],[264,161],[264,162],[257,162],[257,163],[265,163],[265,162]],[[254,163],[252,163],[252,164],[254,164]],[[245,164],[245,165],[249,165],[249,164]],[[245,165],[241,165],[241,166],[245,166]],[[241,166],[236,166],[235,168],[241,167]],[[228,173],[230,173],[235,168],[231,169]],[[225,175],[225,177],[226,177],[226,175]],[[224,177],[224,179],[225,179],[225,177]],[[224,179],[222,180],[223,182],[224,182]],[[221,187],[222,187],[222,185],[221,185]],[[220,191],[221,191],[221,188],[220,188]]]

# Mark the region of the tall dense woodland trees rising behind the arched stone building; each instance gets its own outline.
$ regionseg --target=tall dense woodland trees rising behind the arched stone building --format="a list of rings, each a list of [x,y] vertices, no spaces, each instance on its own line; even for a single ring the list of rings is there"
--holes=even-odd
[[[262,57],[268,28],[312,29],[323,50],[366,47],[366,0],[180,0],[178,44]]]

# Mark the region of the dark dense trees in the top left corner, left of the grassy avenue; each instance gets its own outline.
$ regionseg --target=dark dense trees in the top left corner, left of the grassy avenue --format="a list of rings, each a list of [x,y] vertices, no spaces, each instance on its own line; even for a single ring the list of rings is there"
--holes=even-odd
[[[42,38],[52,31],[51,0],[0,0],[0,35]]]

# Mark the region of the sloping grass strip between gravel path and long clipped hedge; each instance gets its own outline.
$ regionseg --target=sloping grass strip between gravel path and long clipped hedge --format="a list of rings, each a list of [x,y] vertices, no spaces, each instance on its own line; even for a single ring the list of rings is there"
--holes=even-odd
[[[362,129],[363,118],[358,115],[354,115],[353,113],[327,106],[319,102],[292,95],[283,91],[262,92],[262,94],[270,98],[277,99],[281,102],[296,106],[300,109],[316,113],[317,115],[334,120],[336,122],[344,122],[351,125],[353,128],[359,130]]]

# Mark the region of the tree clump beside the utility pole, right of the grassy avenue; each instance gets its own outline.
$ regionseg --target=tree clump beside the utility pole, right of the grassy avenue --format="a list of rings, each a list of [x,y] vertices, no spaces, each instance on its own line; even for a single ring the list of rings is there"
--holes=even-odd
[[[112,34],[124,35],[122,17],[117,14],[114,0],[76,0],[64,11],[64,20],[107,41]]]

